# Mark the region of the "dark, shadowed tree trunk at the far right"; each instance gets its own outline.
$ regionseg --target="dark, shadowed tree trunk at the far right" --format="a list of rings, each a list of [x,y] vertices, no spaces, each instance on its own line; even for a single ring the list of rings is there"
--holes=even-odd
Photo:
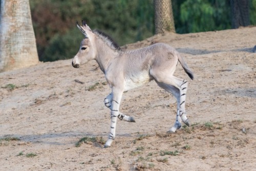
[[[233,29],[250,25],[249,3],[249,0],[230,0]]]

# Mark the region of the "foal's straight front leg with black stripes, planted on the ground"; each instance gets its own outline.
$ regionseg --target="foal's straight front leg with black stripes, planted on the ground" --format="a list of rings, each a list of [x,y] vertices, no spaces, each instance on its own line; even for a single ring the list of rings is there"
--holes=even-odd
[[[117,117],[119,115],[119,106],[120,106],[120,102],[121,102],[121,98],[122,98],[122,91],[116,91],[114,92],[112,90],[113,93],[113,99],[112,99],[112,107],[111,107],[111,125],[110,125],[110,134],[109,134],[109,138],[106,141],[104,148],[106,147],[110,147],[111,143],[113,142],[113,140],[115,139],[116,136],[116,122],[117,122]]]

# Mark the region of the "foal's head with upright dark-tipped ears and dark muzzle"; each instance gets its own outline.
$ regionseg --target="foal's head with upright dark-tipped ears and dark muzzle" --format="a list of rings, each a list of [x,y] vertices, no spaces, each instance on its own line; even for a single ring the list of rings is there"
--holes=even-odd
[[[78,29],[83,33],[84,38],[81,41],[80,49],[72,61],[74,68],[79,68],[80,65],[86,63],[89,60],[95,59],[96,47],[95,47],[95,34],[92,32],[86,22],[82,21],[82,26],[76,24]]]

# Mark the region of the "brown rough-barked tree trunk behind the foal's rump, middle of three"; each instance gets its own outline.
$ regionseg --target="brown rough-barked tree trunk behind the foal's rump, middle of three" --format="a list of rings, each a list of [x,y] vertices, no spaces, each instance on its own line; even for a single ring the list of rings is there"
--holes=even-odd
[[[171,0],[154,0],[156,34],[174,32],[174,16]]]

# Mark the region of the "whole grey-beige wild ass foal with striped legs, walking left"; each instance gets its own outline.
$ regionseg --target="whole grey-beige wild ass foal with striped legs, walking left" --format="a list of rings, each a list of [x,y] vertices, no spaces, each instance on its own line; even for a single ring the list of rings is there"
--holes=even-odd
[[[82,22],[77,27],[84,34],[80,49],[72,61],[74,68],[95,59],[105,74],[106,81],[112,89],[105,99],[105,106],[111,110],[111,129],[104,147],[110,147],[115,139],[117,117],[120,120],[135,122],[133,117],[119,112],[122,94],[155,80],[158,86],[173,94],[177,100],[176,121],[169,132],[174,133],[181,127],[181,120],[189,126],[185,112],[187,81],[173,76],[178,61],[184,71],[193,79],[193,72],[188,68],[183,58],[172,47],[166,44],[122,51],[115,42],[105,34],[94,30]]]

